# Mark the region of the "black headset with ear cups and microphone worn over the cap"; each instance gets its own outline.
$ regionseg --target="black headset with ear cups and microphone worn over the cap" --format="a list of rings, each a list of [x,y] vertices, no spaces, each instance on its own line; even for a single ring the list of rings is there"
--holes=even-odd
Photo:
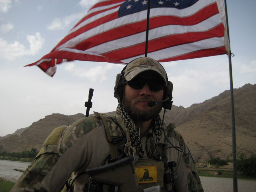
[[[131,63],[131,62],[129,62],[129,63]],[[127,65],[129,65],[129,63]],[[125,71],[127,65],[125,65],[125,67],[123,68],[121,73],[116,75],[116,79],[115,79],[114,96],[115,96],[115,98],[117,98],[118,102],[123,100],[123,89],[124,89],[123,81],[125,80],[124,71]],[[164,67],[163,67],[163,69],[164,69]],[[165,71],[165,69],[164,69],[164,71]],[[166,73],[166,71],[165,71],[165,73]],[[164,86],[163,100],[165,100],[167,98],[169,98],[169,99],[163,102],[163,108],[171,110],[173,84],[172,84],[172,82],[168,81],[167,73],[166,73],[166,81],[167,81],[167,86]],[[157,103],[160,103],[160,102],[157,102]]]

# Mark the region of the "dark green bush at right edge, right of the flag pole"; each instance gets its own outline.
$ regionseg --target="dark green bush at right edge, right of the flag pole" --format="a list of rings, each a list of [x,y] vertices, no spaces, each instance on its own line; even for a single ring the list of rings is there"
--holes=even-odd
[[[252,154],[249,158],[246,158],[245,153],[242,152],[238,156],[237,170],[246,176],[256,176],[256,155]]]

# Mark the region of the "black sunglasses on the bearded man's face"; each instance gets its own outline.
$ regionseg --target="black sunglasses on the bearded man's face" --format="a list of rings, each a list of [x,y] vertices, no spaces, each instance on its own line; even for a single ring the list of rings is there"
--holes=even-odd
[[[134,79],[131,81],[125,81],[124,84],[128,84],[131,88],[141,89],[144,87],[145,83],[148,84],[150,91],[160,91],[164,88],[164,84],[159,80],[152,79]]]

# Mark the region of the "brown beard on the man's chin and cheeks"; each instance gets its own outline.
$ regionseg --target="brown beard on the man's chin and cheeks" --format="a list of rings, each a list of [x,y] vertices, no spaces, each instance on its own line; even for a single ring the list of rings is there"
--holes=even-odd
[[[134,103],[131,99],[128,99],[125,95],[123,96],[123,108],[131,116],[134,121],[148,121],[157,117],[157,115],[162,110],[162,103],[157,104],[153,107],[150,107],[148,110],[140,110],[135,107],[135,104],[138,100],[135,100]]]

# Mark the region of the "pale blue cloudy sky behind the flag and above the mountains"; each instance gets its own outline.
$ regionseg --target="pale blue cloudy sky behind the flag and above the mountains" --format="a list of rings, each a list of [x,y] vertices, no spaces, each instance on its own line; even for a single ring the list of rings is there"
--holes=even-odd
[[[0,0],[0,136],[28,127],[52,113],[115,111],[113,87],[123,65],[75,61],[58,65],[53,78],[34,63],[96,3],[81,0]],[[233,86],[256,83],[256,1],[227,0]],[[226,55],[162,63],[174,84],[173,104],[185,108],[230,89]],[[230,120],[231,121],[231,120]]]

